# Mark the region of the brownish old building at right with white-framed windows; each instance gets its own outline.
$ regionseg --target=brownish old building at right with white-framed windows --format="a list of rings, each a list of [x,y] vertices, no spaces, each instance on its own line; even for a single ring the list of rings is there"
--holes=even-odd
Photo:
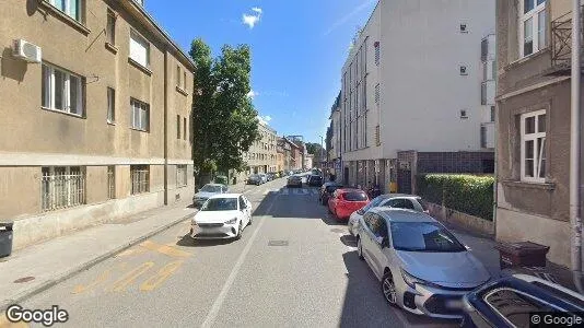
[[[497,238],[570,267],[572,1],[497,4]]]

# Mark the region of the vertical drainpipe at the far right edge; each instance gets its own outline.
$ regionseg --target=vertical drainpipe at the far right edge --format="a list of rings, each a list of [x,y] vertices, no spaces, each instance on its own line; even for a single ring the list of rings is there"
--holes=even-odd
[[[580,209],[580,0],[572,2],[572,106],[570,116],[570,224],[572,226],[571,265],[574,284],[582,285],[582,218]]]

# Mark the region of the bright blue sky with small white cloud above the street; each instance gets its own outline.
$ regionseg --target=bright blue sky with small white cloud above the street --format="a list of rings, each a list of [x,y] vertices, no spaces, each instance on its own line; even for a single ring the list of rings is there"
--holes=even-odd
[[[358,26],[376,0],[145,0],[183,49],[202,37],[252,47],[254,104],[282,134],[320,142],[340,90],[340,70]]]

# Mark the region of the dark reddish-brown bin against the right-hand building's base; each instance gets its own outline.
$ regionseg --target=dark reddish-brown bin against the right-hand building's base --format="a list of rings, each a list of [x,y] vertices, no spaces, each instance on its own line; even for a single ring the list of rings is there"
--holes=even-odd
[[[532,242],[498,243],[501,269],[513,267],[546,267],[546,255],[549,246]]]

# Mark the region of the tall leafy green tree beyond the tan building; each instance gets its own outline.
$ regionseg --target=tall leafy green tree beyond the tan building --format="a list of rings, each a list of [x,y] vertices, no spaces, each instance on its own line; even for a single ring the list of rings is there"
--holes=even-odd
[[[192,160],[199,177],[213,171],[244,167],[243,153],[258,139],[257,112],[247,94],[250,91],[250,51],[246,45],[223,46],[212,59],[200,38],[191,44],[195,61],[192,101]]]

